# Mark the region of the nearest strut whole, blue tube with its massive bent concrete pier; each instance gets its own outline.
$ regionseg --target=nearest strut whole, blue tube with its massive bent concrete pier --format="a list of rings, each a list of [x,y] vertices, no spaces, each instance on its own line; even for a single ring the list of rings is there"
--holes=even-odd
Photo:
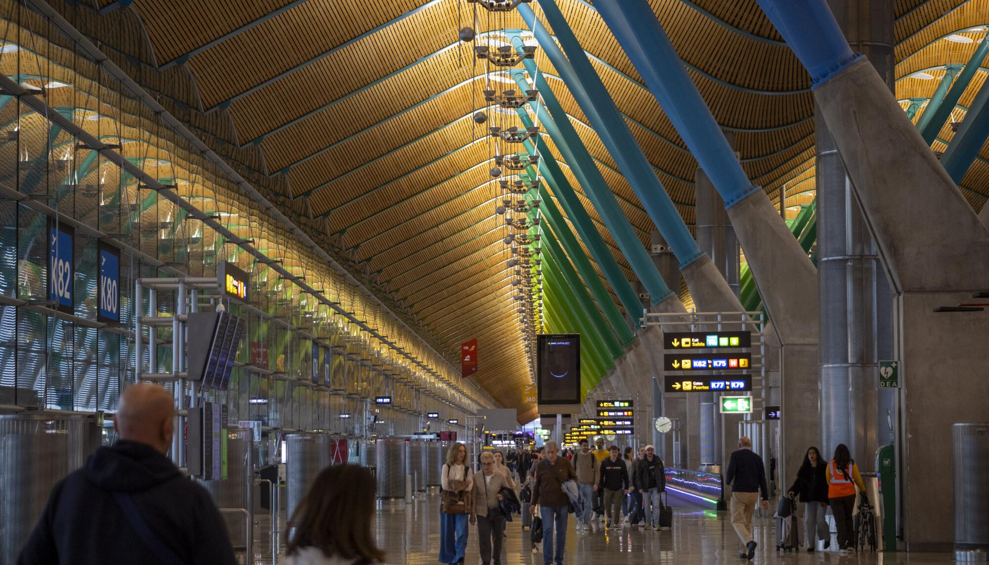
[[[897,477],[909,551],[953,541],[949,422],[985,418],[989,319],[936,312],[989,286],[989,231],[871,65],[856,56],[824,0],[757,0],[810,71],[814,100],[892,282],[900,362]],[[931,375],[947,378],[932,390]],[[947,416],[947,420],[944,417]],[[932,426],[932,422],[944,422]],[[858,455],[861,456],[861,455]]]

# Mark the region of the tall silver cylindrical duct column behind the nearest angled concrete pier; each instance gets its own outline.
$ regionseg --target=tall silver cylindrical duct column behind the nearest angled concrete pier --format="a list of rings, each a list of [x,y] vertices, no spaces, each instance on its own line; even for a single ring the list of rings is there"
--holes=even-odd
[[[893,89],[893,0],[829,0],[854,51]],[[862,470],[886,430],[891,391],[878,389],[877,361],[892,355],[889,282],[827,125],[815,116],[821,361],[821,449],[847,444]],[[783,375],[785,378],[785,375]],[[879,419],[879,413],[883,414]],[[880,427],[881,426],[881,427]]]

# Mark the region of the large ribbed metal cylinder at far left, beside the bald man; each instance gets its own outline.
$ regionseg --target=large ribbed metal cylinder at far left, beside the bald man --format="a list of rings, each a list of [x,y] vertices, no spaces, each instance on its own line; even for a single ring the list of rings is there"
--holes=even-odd
[[[87,421],[0,416],[0,563],[15,563],[51,488],[82,466]]]

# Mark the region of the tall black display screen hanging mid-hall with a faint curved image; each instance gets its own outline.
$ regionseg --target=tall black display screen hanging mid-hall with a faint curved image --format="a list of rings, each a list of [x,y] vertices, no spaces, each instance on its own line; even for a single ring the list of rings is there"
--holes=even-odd
[[[537,336],[536,372],[539,411],[579,406],[581,398],[581,336],[540,334]],[[578,408],[580,410],[580,408]]]

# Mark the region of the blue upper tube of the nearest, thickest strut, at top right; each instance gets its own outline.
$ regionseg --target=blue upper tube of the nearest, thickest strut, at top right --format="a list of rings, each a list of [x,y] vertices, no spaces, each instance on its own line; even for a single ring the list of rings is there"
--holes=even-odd
[[[852,66],[852,52],[826,0],[756,0],[810,73],[811,89]]]

